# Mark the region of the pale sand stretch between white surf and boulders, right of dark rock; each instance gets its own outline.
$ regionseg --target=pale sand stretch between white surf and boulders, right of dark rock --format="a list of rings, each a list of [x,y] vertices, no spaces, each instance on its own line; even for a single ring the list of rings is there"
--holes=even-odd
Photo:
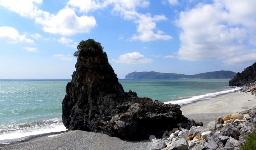
[[[235,114],[246,109],[252,109],[256,105],[256,97],[251,92],[235,91],[215,96],[207,100],[198,100],[181,105],[182,114],[203,122],[203,126],[226,114]]]

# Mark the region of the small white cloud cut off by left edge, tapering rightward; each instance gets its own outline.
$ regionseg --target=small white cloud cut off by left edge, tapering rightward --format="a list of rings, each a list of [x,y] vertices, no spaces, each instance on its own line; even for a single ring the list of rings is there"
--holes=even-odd
[[[26,43],[34,43],[33,40],[28,39],[26,37],[27,35],[19,34],[17,29],[14,29],[13,27],[0,27],[0,39],[7,40],[8,43],[17,44],[19,42],[26,42]]]

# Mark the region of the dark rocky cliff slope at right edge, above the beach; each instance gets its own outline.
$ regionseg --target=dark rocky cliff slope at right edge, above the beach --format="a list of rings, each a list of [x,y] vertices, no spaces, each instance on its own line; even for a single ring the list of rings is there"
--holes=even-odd
[[[256,62],[229,81],[229,86],[246,86],[256,81]]]

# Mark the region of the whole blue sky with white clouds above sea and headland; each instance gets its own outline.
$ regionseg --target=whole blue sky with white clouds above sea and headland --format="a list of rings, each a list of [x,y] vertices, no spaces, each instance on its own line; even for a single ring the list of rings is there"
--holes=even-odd
[[[255,0],[0,0],[0,79],[71,79],[100,42],[119,79],[137,71],[242,72],[256,62]]]

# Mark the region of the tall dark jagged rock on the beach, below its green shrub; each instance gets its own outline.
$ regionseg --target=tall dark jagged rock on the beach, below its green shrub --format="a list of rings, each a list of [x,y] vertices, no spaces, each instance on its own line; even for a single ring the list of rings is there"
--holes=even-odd
[[[75,53],[76,71],[62,102],[62,120],[67,129],[139,140],[150,135],[161,137],[177,124],[189,122],[178,104],[138,97],[131,90],[125,92],[103,48],[95,50],[81,43],[77,46],[81,51]]]

